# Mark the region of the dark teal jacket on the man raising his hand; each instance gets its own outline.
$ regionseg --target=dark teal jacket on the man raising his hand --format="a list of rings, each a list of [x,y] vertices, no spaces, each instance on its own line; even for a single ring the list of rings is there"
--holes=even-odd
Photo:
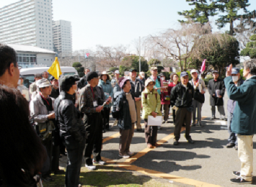
[[[232,132],[240,135],[256,134],[256,76],[244,81],[240,87],[236,87],[231,76],[224,81],[228,97],[237,101],[231,123]]]

